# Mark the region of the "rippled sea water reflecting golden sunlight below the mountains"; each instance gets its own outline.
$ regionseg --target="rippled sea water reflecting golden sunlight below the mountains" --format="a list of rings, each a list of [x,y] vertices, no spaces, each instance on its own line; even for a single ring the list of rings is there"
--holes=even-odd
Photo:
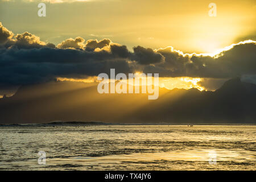
[[[255,134],[256,126],[5,126],[0,170],[255,170]]]

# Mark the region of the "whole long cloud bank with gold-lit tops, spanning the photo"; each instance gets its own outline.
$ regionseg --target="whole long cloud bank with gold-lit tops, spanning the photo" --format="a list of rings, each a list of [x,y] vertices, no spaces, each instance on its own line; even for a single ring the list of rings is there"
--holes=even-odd
[[[55,47],[29,32],[13,35],[0,26],[0,88],[108,73],[159,73],[160,77],[226,79],[256,75],[256,42],[232,44],[216,55],[183,53],[173,47],[151,49],[126,46],[110,39],[67,39]],[[249,80],[249,79],[247,79]],[[216,81],[221,82],[221,81]],[[209,85],[207,81],[201,85]],[[214,84],[213,84],[214,85]],[[208,86],[209,87],[209,86]]]

